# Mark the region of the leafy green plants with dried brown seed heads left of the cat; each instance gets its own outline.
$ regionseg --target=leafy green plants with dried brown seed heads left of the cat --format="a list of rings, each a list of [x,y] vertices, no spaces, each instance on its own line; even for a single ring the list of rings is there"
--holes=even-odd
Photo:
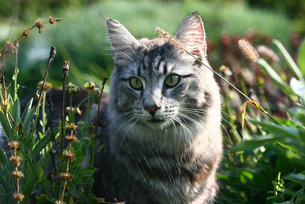
[[[50,17],[49,23],[54,23]],[[59,22],[59,21],[57,21]],[[48,23],[48,22],[47,22]],[[42,20],[38,19],[36,24],[28,30],[24,30],[23,36],[27,36],[32,28],[43,27]],[[1,60],[9,53],[17,57],[17,43],[8,41],[2,50]],[[15,69],[13,76],[14,87],[5,83],[4,72],[0,76],[1,104],[0,123],[1,134],[5,135],[9,149],[0,149],[0,203],[93,203],[99,198],[91,193],[94,168],[94,157],[102,146],[95,147],[97,121],[90,118],[92,90],[99,90],[93,83],[85,84],[88,89],[88,97],[77,106],[72,106],[72,96],[79,94],[80,89],[73,84],[65,85],[66,77],[70,69],[70,62],[63,63],[63,98],[65,93],[70,95],[70,106],[68,114],[65,114],[64,100],[62,100],[62,118],[58,126],[53,128],[46,117],[45,108],[47,101],[46,91],[50,84],[46,82],[49,67],[56,55],[55,47],[51,47],[45,78],[39,85],[37,100],[31,98],[24,111],[21,112],[22,104],[17,95],[17,75]],[[105,84],[104,80],[103,84]],[[2,89],[3,88],[3,89]],[[13,97],[7,90],[13,88]],[[98,103],[101,98],[99,91]],[[36,103],[34,104],[33,101]],[[75,121],[75,115],[79,113],[82,103],[86,104],[87,122]],[[49,105],[50,107],[50,105]],[[42,108],[42,111],[40,110]],[[51,111],[49,111],[51,113]],[[42,114],[42,117],[39,117]],[[57,120],[58,121],[58,120]],[[40,124],[40,125],[39,125]],[[67,131],[69,130],[69,131]],[[1,135],[3,137],[3,135]],[[5,142],[5,140],[1,141]],[[7,142],[5,142],[7,143]],[[65,149],[64,144],[68,147]],[[5,147],[6,145],[2,145]],[[60,146],[60,148],[58,148]],[[87,152],[91,151],[88,157]],[[58,166],[56,165],[58,163]],[[52,166],[52,169],[50,167]],[[15,201],[14,201],[15,200]],[[96,201],[97,202],[97,201]]]

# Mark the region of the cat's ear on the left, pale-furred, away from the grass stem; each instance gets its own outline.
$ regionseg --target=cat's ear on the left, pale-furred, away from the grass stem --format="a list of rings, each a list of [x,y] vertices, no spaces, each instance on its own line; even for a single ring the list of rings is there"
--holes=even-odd
[[[137,39],[119,21],[106,19],[108,35],[112,47],[113,61],[117,65],[127,65],[136,57]]]

